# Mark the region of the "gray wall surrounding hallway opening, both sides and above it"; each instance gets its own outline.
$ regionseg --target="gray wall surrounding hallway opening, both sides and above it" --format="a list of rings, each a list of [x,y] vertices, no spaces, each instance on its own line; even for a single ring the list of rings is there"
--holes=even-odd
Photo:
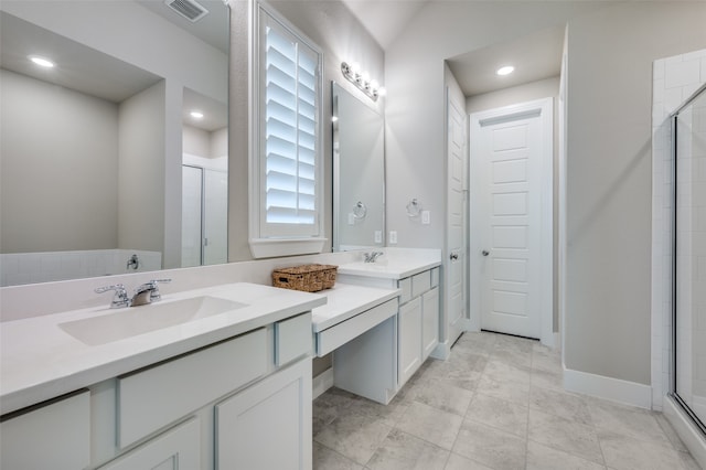
[[[565,23],[566,365],[649,384],[651,64],[704,47],[706,3],[428,3],[386,51],[388,229],[443,245],[443,60]],[[406,220],[410,196],[430,226]]]

